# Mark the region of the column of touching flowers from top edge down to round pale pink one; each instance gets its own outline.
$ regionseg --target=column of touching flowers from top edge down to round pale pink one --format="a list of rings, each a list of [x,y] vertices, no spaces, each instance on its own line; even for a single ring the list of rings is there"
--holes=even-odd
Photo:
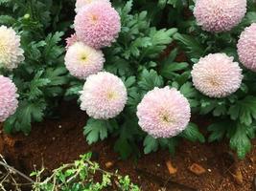
[[[118,36],[120,16],[108,0],[77,0],[76,11],[76,33],[66,39],[65,65],[70,74],[86,80],[81,110],[94,118],[116,117],[127,103],[127,89],[116,75],[101,72],[105,56],[99,49]]]

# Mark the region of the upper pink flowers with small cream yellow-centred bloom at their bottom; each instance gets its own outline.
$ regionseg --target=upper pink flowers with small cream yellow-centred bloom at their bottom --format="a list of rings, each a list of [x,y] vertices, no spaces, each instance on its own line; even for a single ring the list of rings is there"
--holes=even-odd
[[[65,65],[70,74],[86,79],[104,68],[100,48],[110,46],[120,32],[120,16],[108,0],[77,0],[75,31],[66,39]]]

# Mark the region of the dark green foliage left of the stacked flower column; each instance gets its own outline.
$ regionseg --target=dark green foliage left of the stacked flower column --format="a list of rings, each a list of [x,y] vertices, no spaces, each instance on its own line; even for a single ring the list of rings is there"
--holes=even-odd
[[[17,112],[4,124],[8,133],[22,131],[28,135],[31,123],[49,116],[47,112],[50,114],[64,96],[64,85],[70,79],[63,65],[63,31],[66,28],[61,28],[63,22],[59,21],[60,17],[64,18],[63,3],[52,0],[0,2],[0,23],[12,26],[21,35],[21,47],[25,52],[25,61],[17,69],[3,71],[11,76],[19,94]]]

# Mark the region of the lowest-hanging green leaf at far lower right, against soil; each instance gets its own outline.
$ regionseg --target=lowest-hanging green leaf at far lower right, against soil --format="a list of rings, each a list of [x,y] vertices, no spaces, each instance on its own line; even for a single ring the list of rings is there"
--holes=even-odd
[[[230,138],[230,147],[237,151],[239,159],[244,159],[251,150],[250,139],[246,135],[246,127],[238,123],[235,134]]]

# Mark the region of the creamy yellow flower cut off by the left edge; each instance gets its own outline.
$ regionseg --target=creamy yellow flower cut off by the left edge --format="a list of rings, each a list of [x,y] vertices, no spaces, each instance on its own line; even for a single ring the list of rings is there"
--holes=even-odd
[[[24,51],[20,48],[20,36],[6,26],[0,27],[0,68],[12,70],[24,60]]]

